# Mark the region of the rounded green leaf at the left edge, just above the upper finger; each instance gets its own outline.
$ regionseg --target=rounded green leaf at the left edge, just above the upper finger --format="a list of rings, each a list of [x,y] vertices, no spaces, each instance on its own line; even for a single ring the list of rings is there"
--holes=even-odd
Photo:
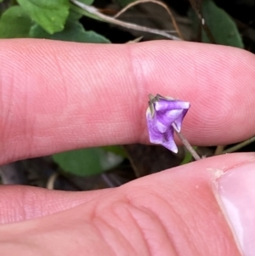
[[[0,38],[29,37],[32,22],[20,6],[7,9],[0,19]]]

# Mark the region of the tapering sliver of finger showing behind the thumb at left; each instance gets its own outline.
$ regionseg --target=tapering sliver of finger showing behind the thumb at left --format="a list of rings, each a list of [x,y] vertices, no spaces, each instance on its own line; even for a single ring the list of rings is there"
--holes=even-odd
[[[74,208],[111,191],[50,191],[25,185],[0,185],[0,224],[35,219]]]

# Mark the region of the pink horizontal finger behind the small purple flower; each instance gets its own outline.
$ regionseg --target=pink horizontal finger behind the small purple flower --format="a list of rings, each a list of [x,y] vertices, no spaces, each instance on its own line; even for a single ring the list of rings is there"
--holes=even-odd
[[[254,134],[254,60],[200,43],[3,40],[0,162],[148,142],[149,93],[190,101],[184,134],[195,145],[246,139]]]

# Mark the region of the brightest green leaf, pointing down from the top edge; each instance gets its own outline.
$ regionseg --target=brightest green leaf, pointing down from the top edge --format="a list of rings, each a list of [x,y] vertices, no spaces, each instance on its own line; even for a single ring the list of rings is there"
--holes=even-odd
[[[53,34],[62,31],[69,14],[68,0],[17,0],[31,19]]]

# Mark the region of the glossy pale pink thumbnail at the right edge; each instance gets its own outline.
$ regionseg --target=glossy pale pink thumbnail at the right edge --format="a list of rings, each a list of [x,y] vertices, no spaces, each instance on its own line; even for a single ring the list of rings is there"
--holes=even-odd
[[[215,180],[219,203],[244,256],[255,255],[255,163],[232,168]]]

